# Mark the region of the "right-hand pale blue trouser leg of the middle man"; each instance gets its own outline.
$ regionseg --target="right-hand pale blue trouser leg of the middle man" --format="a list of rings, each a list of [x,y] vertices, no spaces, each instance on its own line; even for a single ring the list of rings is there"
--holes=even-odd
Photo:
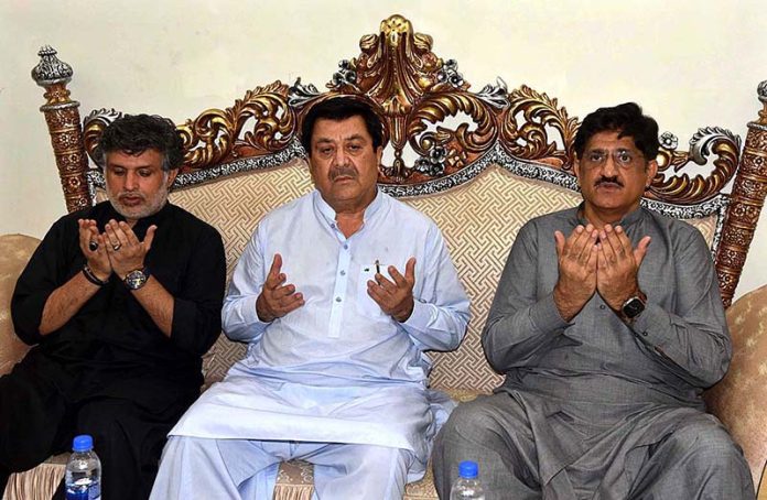
[[[312,443],[299,445],[294,457],[314,464],[320,500],[400,500],[414,459],[410,450],[400,448]]]

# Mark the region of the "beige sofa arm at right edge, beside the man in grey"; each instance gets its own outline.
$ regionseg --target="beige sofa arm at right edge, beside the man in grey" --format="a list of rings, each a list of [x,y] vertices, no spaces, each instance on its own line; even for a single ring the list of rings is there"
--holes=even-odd
[[[767,463],[767,285],[727,309],[733,360],[727,376],[706,392],[706,403],[743,447],[758,485]]]

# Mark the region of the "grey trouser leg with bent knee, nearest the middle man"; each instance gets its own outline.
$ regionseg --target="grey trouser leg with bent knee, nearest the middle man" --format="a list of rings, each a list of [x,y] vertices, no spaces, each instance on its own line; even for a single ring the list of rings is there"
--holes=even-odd
[[[460,404],[437,434],[432,467],[440,498],[450,497],[463,460],[478,464],[487,500],[541,498],[530,423],[506,393]]]

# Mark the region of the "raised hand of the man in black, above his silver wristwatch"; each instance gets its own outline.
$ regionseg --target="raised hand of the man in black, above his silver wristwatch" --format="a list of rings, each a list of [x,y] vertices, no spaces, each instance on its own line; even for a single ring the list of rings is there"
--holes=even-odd
[[[143,269],[144,258],[152,248],[158,227],[150,226],[143,241],[139,241],[128,222],[125,221],[118,222],[112,219],[107,222],[104,229],[105,247],[115,274],[122,280],[129,272]]]

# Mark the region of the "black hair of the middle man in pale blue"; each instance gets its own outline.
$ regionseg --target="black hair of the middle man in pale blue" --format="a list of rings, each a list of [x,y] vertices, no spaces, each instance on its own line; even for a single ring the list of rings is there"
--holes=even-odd
[[[341,121],[352,117],[360,117],[365,120],[365,127],[372,139],[374,150],[384,144],[384,124],[370,105],[352,97],[334,97],[314,105],[304,117],[301,124],[301,145],[306,154],[312,155],[312,132],[317,120]]]

